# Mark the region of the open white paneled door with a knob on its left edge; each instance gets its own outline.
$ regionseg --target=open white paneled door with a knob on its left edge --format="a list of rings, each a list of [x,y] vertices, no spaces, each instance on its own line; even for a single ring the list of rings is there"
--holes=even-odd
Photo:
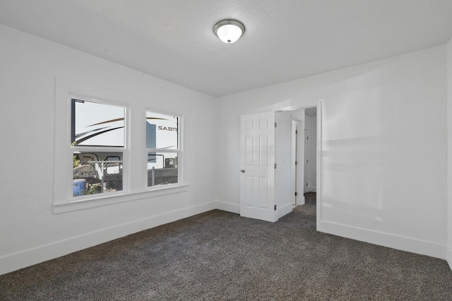
[[[240,215],[275,222],[275,112],[242,115],[240,133]]]

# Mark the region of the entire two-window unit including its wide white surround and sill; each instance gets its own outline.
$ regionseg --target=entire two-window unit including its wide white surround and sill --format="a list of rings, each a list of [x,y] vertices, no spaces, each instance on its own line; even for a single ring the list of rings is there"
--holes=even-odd
[[[187,191],[182,117],[146,112],[149,102],[157,101],[55,79],[54,213]]]

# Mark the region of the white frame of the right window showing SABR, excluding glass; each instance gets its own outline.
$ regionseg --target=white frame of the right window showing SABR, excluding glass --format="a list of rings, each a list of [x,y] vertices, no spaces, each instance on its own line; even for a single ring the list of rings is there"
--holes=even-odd
[[[183,175],[184,173],[182,172],[183,170],[183,166],[184,166],[184,152],[183,152],[183,148],[184,148],[184,117],[182,114],[177,114],[177,113],[169,113],[169,112],[162,112],[159,110],[153,110],[150,107],[146,107],[145,110],[145,118],[148,116],[148,112],[153,112],[156,114],[164,114],[167,116],[171,116],[171,117],[177,117],[178,118],[178,127],[177,127],[177,144],[179,146],[178,149],[174,150],[174,149],[165,149],[165,148],[145,148],[145,156],[146,158],[148,158],[148,153],[150,152],[155,152],[155,153],[177,153],[177,183],[173,183],[173,184],[165,184],[165,185],[157,185],[157,186],[148,186],[148,165],[146,164],[145,166],[145,173],[146,173],[146,182],[145,182],[145,189],[148,191],[153,191],[153,190],[161,190],[161,189],[168,189],[168,188],[172,188],[172,187],[182,187],[184,186],[184,179],[183,179]],[[146,136],[144,137],[144,141],[146,141]],[[147,160],[146,160],[147,162]]]

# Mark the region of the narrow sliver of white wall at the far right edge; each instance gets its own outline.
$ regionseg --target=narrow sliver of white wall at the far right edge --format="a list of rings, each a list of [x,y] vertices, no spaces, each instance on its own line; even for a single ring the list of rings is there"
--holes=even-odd
[[[448,122],[448,198],[447,198],[447,261],[452,268],[452,39],[447,44],[447,122]]]

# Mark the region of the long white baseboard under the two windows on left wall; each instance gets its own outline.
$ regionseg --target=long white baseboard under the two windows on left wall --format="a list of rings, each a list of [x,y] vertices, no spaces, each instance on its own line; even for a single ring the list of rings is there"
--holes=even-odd
[[[135,220],[112,228],[53,242],[52,244],[44,244],[40,247],[22,252],[8,254],[0,257],[0,275],[213,209],[215,209],[215,201],[162,213],[142,220]]]

